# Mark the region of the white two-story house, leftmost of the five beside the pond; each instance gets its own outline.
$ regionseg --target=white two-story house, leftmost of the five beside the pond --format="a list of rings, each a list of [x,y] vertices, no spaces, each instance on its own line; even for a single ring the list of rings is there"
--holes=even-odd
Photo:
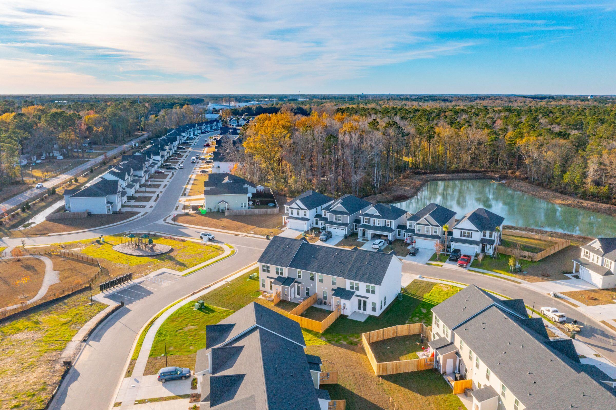
[[[317,191],[309,190],[296,196],[285,204],[282,223],[289,229],[307,231],[312,227],[320,228],[322,209],[333,203],[334,198]]]

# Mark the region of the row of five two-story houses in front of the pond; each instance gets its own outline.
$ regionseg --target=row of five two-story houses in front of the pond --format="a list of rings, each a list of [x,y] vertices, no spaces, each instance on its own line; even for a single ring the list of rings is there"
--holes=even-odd
[[[416,247],[434,250],[437,243],[460,249],[463,254],[492,255],[500,242],[505,218],[477,208],[456,222],[456,213],[428,204],[416,214],[392,204],[373,204],[353,195],[339,199],[306,191],[285,204],[283,223],[290,229],[321,228],[333,235],[371,239],[404,239]],[[445,231],[444,227],[447,227]]]

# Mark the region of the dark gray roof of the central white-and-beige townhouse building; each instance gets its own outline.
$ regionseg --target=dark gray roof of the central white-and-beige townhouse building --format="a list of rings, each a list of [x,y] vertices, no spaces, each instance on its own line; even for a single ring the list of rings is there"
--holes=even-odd
[[[381,284],[394,255],[363,249],[310,244],[306,239],[274,236],[259,263],[325,273],[370,284]]]

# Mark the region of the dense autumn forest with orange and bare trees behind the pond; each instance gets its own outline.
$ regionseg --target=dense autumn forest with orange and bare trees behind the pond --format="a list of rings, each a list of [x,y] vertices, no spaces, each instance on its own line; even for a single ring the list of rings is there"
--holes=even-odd
[[[303,102],[302,113],[298,103],[245,128],[245,149],[230,156],[246,177],[291,195],[307,188],[370,195],[406,172],[490,170],[615,202],[614,98]]]

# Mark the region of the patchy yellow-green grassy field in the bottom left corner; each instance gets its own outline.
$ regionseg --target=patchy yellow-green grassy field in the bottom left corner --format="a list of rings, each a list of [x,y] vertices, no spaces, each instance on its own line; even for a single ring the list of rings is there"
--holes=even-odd
[[[34,307],[0,324],[0,408],[43,408],[60,381],[60,353],[105,305],[87,291]]]

